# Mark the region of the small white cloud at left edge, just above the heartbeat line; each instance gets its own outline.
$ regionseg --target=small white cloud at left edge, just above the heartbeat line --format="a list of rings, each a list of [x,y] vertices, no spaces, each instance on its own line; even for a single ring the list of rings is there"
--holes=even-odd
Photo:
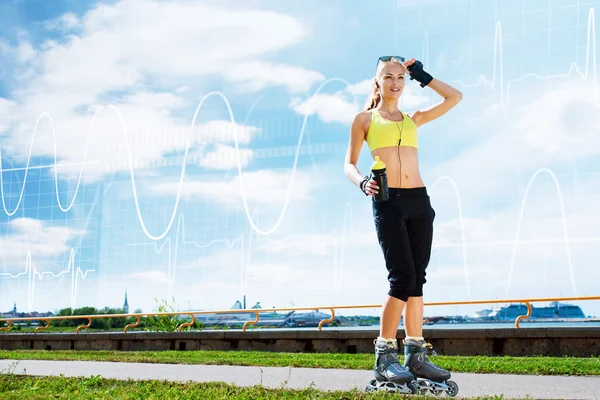
[[[8,228],[11,232],[0,237],[0,260],[19,266],[25,265],[28,252],[34,260],[40,261],[64,254],[71,249],[71,241],[85,234],[81,230],[52,226],[33,218],[13,219],[8,222]]]

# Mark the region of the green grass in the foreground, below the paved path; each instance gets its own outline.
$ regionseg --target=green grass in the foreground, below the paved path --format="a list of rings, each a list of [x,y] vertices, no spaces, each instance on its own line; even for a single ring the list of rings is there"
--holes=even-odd
[[[364,393],[359,390],[321,392],[314,388],[292,390],[270,389],[261,385],[240,387],[221,382],[176,383],[168,381],[133,381],[89,378],[64,378],[2,375],[0,374],[0,398],[2,399],[400,399],[399,395],[383,392]],[[422,396],[404,396],[410,399],[426,399]],[[501,397],[479,397],[500,399]]]

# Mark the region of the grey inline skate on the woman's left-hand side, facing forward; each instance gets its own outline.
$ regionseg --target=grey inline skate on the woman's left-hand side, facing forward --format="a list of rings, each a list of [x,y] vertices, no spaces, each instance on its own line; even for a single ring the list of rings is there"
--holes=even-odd
[[[366,387],[367,392],[384,390],[392,393],[416,394],[415,378],[398,362],[398,342],[396,339],[376,339],[375,379]]]

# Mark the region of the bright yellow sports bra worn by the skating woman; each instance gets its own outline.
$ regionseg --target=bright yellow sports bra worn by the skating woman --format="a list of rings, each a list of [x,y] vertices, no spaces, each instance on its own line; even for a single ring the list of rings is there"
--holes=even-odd
[[[371,126],[365,138],[371,152],[382,147],[398,145],[419,148],[415,121],[404,113],[402,115],[402,121],[394,122],[383,118],[379,111],[371,110]]]

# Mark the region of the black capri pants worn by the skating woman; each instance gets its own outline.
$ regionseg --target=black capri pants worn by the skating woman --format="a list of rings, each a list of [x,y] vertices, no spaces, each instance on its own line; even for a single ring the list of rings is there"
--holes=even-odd
[[[388,294],[407,301],[423,296],[435,211],[425,187],[389,188],[389,193],[388,201],[373,201],[373,219],[388,270]]]

